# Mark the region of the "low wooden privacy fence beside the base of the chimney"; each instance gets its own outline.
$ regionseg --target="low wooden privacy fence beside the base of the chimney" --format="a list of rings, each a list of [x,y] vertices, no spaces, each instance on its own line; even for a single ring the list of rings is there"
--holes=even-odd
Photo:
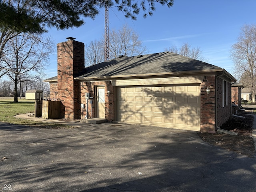
[[[35,117],[42,116],[45,119],[60,118],[61,101],[40,100],[35,101],[35,103]]]

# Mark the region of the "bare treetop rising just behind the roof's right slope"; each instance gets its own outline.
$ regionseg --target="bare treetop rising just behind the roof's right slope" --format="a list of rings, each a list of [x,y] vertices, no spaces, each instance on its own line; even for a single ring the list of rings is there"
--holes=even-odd
[[[206,62],[206,59],[202,56],[202,50],[200,50],[199,47],[191,47],[191,45],[188,43],[183,43],[180,48],[172,45],[169,48],[164,48],[164,51],[170,51],[176,54],[190,57],[192,59]]]

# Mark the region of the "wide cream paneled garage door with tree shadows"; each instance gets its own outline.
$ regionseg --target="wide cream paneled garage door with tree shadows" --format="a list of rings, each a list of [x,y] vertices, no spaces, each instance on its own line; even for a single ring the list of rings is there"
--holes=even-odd
[[[120,86],[118,121],[200,131],[200,86]]]

